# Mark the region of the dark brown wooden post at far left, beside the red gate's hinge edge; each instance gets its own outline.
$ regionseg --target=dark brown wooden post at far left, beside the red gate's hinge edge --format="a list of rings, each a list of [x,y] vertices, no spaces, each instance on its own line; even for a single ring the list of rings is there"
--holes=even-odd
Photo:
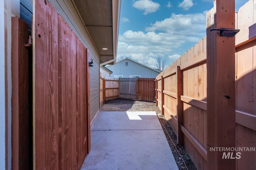
[[[12,169],[29,169],[28,24],[12,17]]]

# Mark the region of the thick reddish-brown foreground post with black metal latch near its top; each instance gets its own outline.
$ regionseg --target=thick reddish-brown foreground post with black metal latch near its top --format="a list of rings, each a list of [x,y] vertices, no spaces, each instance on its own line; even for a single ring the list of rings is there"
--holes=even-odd
[[[236,159],[210,147],[236,147],[235,37],[212,28],[235,27],[235,1],[216,0],[207,13],[207,169],[236,169]],[[227,50],[228,49],[228,50]]]

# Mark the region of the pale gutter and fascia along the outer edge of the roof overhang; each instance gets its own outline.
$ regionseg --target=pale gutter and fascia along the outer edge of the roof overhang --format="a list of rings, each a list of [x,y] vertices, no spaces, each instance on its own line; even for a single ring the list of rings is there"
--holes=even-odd
[[[106,65],[114,61],[116,62],[118,31],[119,31],[119,18],[120,18],[121,0],[112,0],[112,22],[113,22],[113,57],[114,59],[101,63],[100,66]]]

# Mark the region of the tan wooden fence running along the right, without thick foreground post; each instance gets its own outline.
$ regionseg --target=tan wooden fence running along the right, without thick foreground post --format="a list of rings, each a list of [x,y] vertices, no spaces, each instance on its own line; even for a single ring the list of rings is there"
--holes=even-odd
[[[236,14],[236,147],[256,147],[255,2],[249,0]],[[197,169],[207,169],[206,67],[204,37],[156,77],[156,105]],[[255,161],[256,152],[243,151],[236,168],[256,170]]]

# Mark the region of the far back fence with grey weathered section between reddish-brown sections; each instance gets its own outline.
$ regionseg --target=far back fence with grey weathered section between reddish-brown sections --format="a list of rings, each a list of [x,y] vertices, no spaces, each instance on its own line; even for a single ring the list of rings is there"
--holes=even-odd
[[[100,106],[115,98],[156,100],[155,78],[100,78]]]

